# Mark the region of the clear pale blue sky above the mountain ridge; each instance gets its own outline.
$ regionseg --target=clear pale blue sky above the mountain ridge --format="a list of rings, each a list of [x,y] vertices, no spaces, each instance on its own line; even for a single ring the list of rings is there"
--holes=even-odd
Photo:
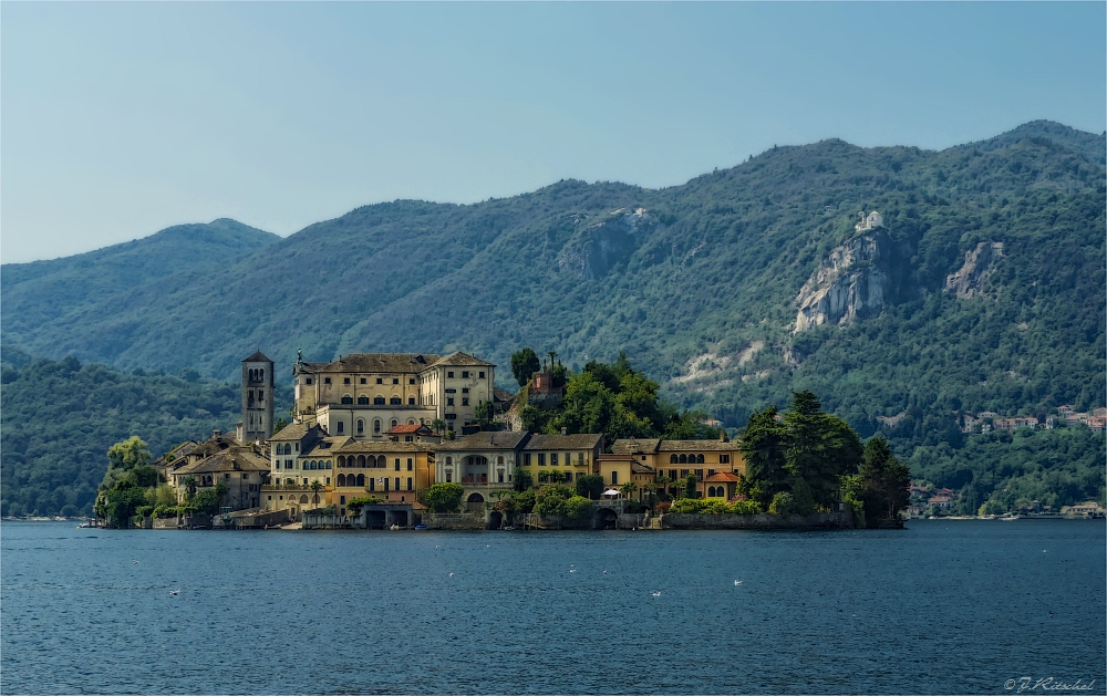
[[[1086,3],[0,4],[0,257],[395,198],[680,184],[774,144],[1100,133]]]

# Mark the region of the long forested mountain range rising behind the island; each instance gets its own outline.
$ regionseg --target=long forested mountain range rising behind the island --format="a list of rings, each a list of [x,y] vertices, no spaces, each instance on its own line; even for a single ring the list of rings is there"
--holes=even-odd
[[[4,266],[0,334],[216,378],[258,346],[282,372],[300,347],[465,350],[503,386],[525,345],[567,365],[625,351],[730,427],[811,388],[914,457],[963,447],[963,412],[1103,405],[1105,154],[1103,134],[1034,122],[939,152],[774,147],[658,190],[380,204],[134,276],[87,263],[86,280],[82,257]],[[882,225],[856,229],[858,211]]]

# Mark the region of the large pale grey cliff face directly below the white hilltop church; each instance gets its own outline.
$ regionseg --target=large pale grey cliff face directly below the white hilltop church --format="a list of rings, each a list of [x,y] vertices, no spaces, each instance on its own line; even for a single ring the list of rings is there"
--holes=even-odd
[[[794,333],[879,314],[889,290],[884,246],[880,237],[866,235],[835,247],[796,297]]]

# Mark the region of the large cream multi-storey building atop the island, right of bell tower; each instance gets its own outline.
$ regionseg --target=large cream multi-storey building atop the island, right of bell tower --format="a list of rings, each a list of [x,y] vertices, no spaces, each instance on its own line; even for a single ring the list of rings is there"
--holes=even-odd
[[[495,399],[493,363],[465,353],[354,353],[330,363],[298,361],[293,420],[331,436],[387,439],[399,425],[441,419],[464,433],[477,406]]]

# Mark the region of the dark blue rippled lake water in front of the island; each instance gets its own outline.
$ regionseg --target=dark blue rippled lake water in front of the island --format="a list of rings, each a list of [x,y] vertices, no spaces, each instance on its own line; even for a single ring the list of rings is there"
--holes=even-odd
[[[6,522],[0,543],[4,694],[1107,683],[1098,521],[474,533]]]

